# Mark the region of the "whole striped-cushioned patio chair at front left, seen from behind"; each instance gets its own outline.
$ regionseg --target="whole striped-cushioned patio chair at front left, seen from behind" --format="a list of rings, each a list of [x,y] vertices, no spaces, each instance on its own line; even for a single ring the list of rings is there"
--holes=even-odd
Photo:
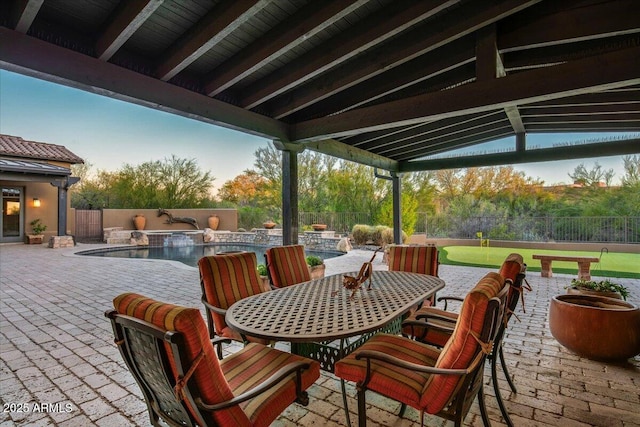
[[[133,293],[114,307],[105,315],[154,426],[268,426],[307,405],[320,376],[318,362],[257,343],[219,361],[196,308]]]

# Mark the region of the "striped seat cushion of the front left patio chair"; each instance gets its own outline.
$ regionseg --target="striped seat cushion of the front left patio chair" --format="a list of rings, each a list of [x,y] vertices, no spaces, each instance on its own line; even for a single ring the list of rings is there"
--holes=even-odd
[[[238,395],[265,381],[284,364],[298,360],[305,359],[262,345],[249,344],[242,352],[225,357],[220,364],[231,389]],[[313,362],[302,374],[302,389],[310,387],[319,377],[320,364]],[[254,426],[270,425],[296,399],[295,374],[291,379],[241,404]]]

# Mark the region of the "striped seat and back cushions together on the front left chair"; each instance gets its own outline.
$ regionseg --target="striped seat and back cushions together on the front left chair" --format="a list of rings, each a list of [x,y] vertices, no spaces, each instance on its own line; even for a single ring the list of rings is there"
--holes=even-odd
[[[166,304],[132,293],[116,297],[114,307],[121,314],[183,333],[187,366],[201,351],[204,352],[204,358],[192,376],[204,403],[219,403],[253,389],[290,362],[310,362],[309,369],[302,374],[303,390],[320,377],[318,362],[257,343],[248,344],[218,361],[198,309]],[[168,349],[170,352],[170,347]],[[174,376],[177,379],[175,367]],[[266,393],[229,409],[215,411],[211,416],[218,425],[269,426],[295,399],[295,374],[292,374],[289,380],[280,382]]]

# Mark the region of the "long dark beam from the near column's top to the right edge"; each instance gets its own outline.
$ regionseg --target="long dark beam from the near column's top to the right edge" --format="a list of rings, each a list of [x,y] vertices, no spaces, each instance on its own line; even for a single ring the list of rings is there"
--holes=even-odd
[[[540,68],[485,82],[360,108],[292,126],[292,139],[339,138],[428,120],[575,96],[640,83],[640,48]],[[584,70],[590,70],[586,73]]]

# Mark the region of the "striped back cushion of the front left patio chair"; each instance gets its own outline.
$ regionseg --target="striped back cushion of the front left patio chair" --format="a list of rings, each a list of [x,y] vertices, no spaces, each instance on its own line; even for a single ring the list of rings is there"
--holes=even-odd
[[[142,319],[168,331],[183,333],[187,366],[198,357],[201,351],[204,352],[204,358],[192,376],[202,400],[213,404],[233,398],[233,392],[220,368],[218,358],[209,340],[207,327],[198,309],[166,304],[133,293],[119,295],[113,300],[113,306],[120,314]],[[167,348],[171,353],[171,348],[168,345]],[[171,364],[174,378],[177,379],[173,359]],[[192,410],[192,413],[195,414],[195,411]],[[219,425],[250,425],[247,416],[239,406],[216,411],[212,416]]]

